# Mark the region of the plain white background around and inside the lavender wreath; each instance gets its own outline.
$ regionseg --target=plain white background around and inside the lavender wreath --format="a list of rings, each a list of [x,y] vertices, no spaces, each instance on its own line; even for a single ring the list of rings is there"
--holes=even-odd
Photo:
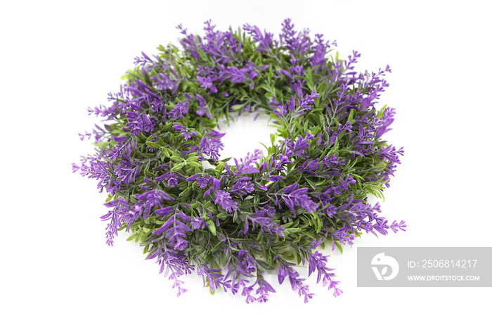
[[[489,1],[13,1],[2,4],[1,230],[2,327],[484,327],[490,288],[364,289],[356,286],[357,246],[492,246],[491,42]],[[304,304],[287,283],[266,304],[171,282],[120,236],[105,246],[104,196],[72,174],[91,153],[78,132],[86,108],[105,103],[140,51],[177,44],[176,25],[202,31],[244,23],[278,34],[284,18],[336,39],[342,58],[362,53],[359,70],[389,64],[381,99],[397,110],[386,134],[405,147],[385,191],[383,216],[407,232],[367,235],[333,253],[339,298],[308,279]],[[245,121],[246,122],[246,121]],[[253,124],[253,123],[251,123]],[[262,130],[261,125],[254,125]],[[239,127],[236,127],[239,129]],[[242,124],[225,155],[268,142]],[[241,132],[242,131],[242,132]],[[266,134],[268,136],[268,133]],[[262,139],[263,138],[263,139]],[[237,144],[240,141],[249,144]],[[330,252],[328,252],[330,253]],[[306,274],[306,270],[301,272]],[[275,280],[275,275],[271,279]],[[286,325],[287,324],[287,325]]]

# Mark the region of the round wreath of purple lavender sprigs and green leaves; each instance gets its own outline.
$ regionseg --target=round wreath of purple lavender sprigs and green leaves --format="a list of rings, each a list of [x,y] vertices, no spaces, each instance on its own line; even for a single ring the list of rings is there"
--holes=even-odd
[[[307,302],[313,294],[295,269],[307,263],[338,296],[318,249],[406,227],[368,203],[403,155],[382,140],[394,108],[375,108],[389,66],[358,73],[358,52],[341,60],[335,42],[290,19],[278,39],[248,24],[221,32],[207,21],[204,36],[178,28],[181,47],[136,58],[110,105],[89,108],[103,124],[80,134],[96,154],[72,166],[109,194],[108,245],[130,232],[178,295],[181,276],[196,272],[212,293],[264,302],[274,292],[265,272],[276,270]],[[245,112],[271,116],[271,146],[221,158],[219,120]]]

